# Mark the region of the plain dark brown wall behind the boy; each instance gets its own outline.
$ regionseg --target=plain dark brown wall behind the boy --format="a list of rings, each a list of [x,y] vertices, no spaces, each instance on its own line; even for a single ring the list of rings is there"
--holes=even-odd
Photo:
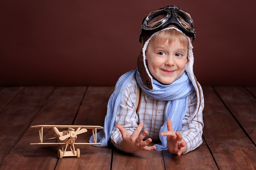
[[[136,67],[142,19],[173,4],[197,31],[203,85],[256,85],[253,0],[2,0],[0,86],[114,85]]]

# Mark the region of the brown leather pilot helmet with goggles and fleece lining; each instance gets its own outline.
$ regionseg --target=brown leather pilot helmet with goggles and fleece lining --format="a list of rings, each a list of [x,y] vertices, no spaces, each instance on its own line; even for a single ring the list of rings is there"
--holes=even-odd
[[[146,16],[146,18],[144,18],[142,22],[141,33],[139,37],[139,41],[141,42],[141,51],[137,58],[137,67],[143,84],[151,90],[153,89],[153,81],[145,64],[143,48],[147,47],[147,44],[145,46],[145,42],[147,42],[149,38],[151,39],[152,35],[171,27],[179,29],[182,33],[187,35],[190,38],[190,42],[195,39],[195,29],[191,16],[189,13],[186,13],[182,9],[179,9],[175,6],[168,6],[152,11]],[[146,49],[144,49],[144,52],[145,51]],[[191,62],[193,67],[193,61]]]

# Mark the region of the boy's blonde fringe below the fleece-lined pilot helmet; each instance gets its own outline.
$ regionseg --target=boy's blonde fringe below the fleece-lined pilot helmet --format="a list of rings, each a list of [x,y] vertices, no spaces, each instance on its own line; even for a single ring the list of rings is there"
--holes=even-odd
[[[151,38],[150,41],[153,41],[157,44],[162,44],[166,42],[166,40],[168,40],[169,44],[176,40],[179,40],[184,47],[188,47],[189,45],[188,38],[186,37],[186,35],[180,33],[179,31],[176,31],[175,29],[159,31]]]

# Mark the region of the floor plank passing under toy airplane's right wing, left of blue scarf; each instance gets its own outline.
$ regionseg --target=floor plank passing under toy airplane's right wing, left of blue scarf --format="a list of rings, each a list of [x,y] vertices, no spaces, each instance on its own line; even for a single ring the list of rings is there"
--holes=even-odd
[[[81,125],[104,125],[107,112],[107,103],[114,87],[90,86],[85,94],[83,103],[76,116],[74,124]],[[89,141],[92,133],[87,132],[77,139],[80,142]],[[58,161],[56,170],[110,170],[112,149],[110,147],[98,148],[91,145],[79,145],[81,156],[79,159],[63,158]]]

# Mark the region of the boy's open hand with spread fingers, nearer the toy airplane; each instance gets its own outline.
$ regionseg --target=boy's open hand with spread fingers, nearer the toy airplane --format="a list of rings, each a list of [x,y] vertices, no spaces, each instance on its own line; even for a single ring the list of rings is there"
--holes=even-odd
[[[150,142],[152,142],[151,138],[146,139],[143,141],[144,137],[148,134],[148,131],[143,131],[141,134],[142,127],[144,126],[143,123],[140,123],[139,126],[135,129],[135,131],[130,135],[130,133],[126,132],[123,126],[116,125],[119,128],[123,141],[121,142],[121,147],[124,152],[127,153],[134,153],[139,150],[154,150],[156,149],[155,146],[147,146]]]

